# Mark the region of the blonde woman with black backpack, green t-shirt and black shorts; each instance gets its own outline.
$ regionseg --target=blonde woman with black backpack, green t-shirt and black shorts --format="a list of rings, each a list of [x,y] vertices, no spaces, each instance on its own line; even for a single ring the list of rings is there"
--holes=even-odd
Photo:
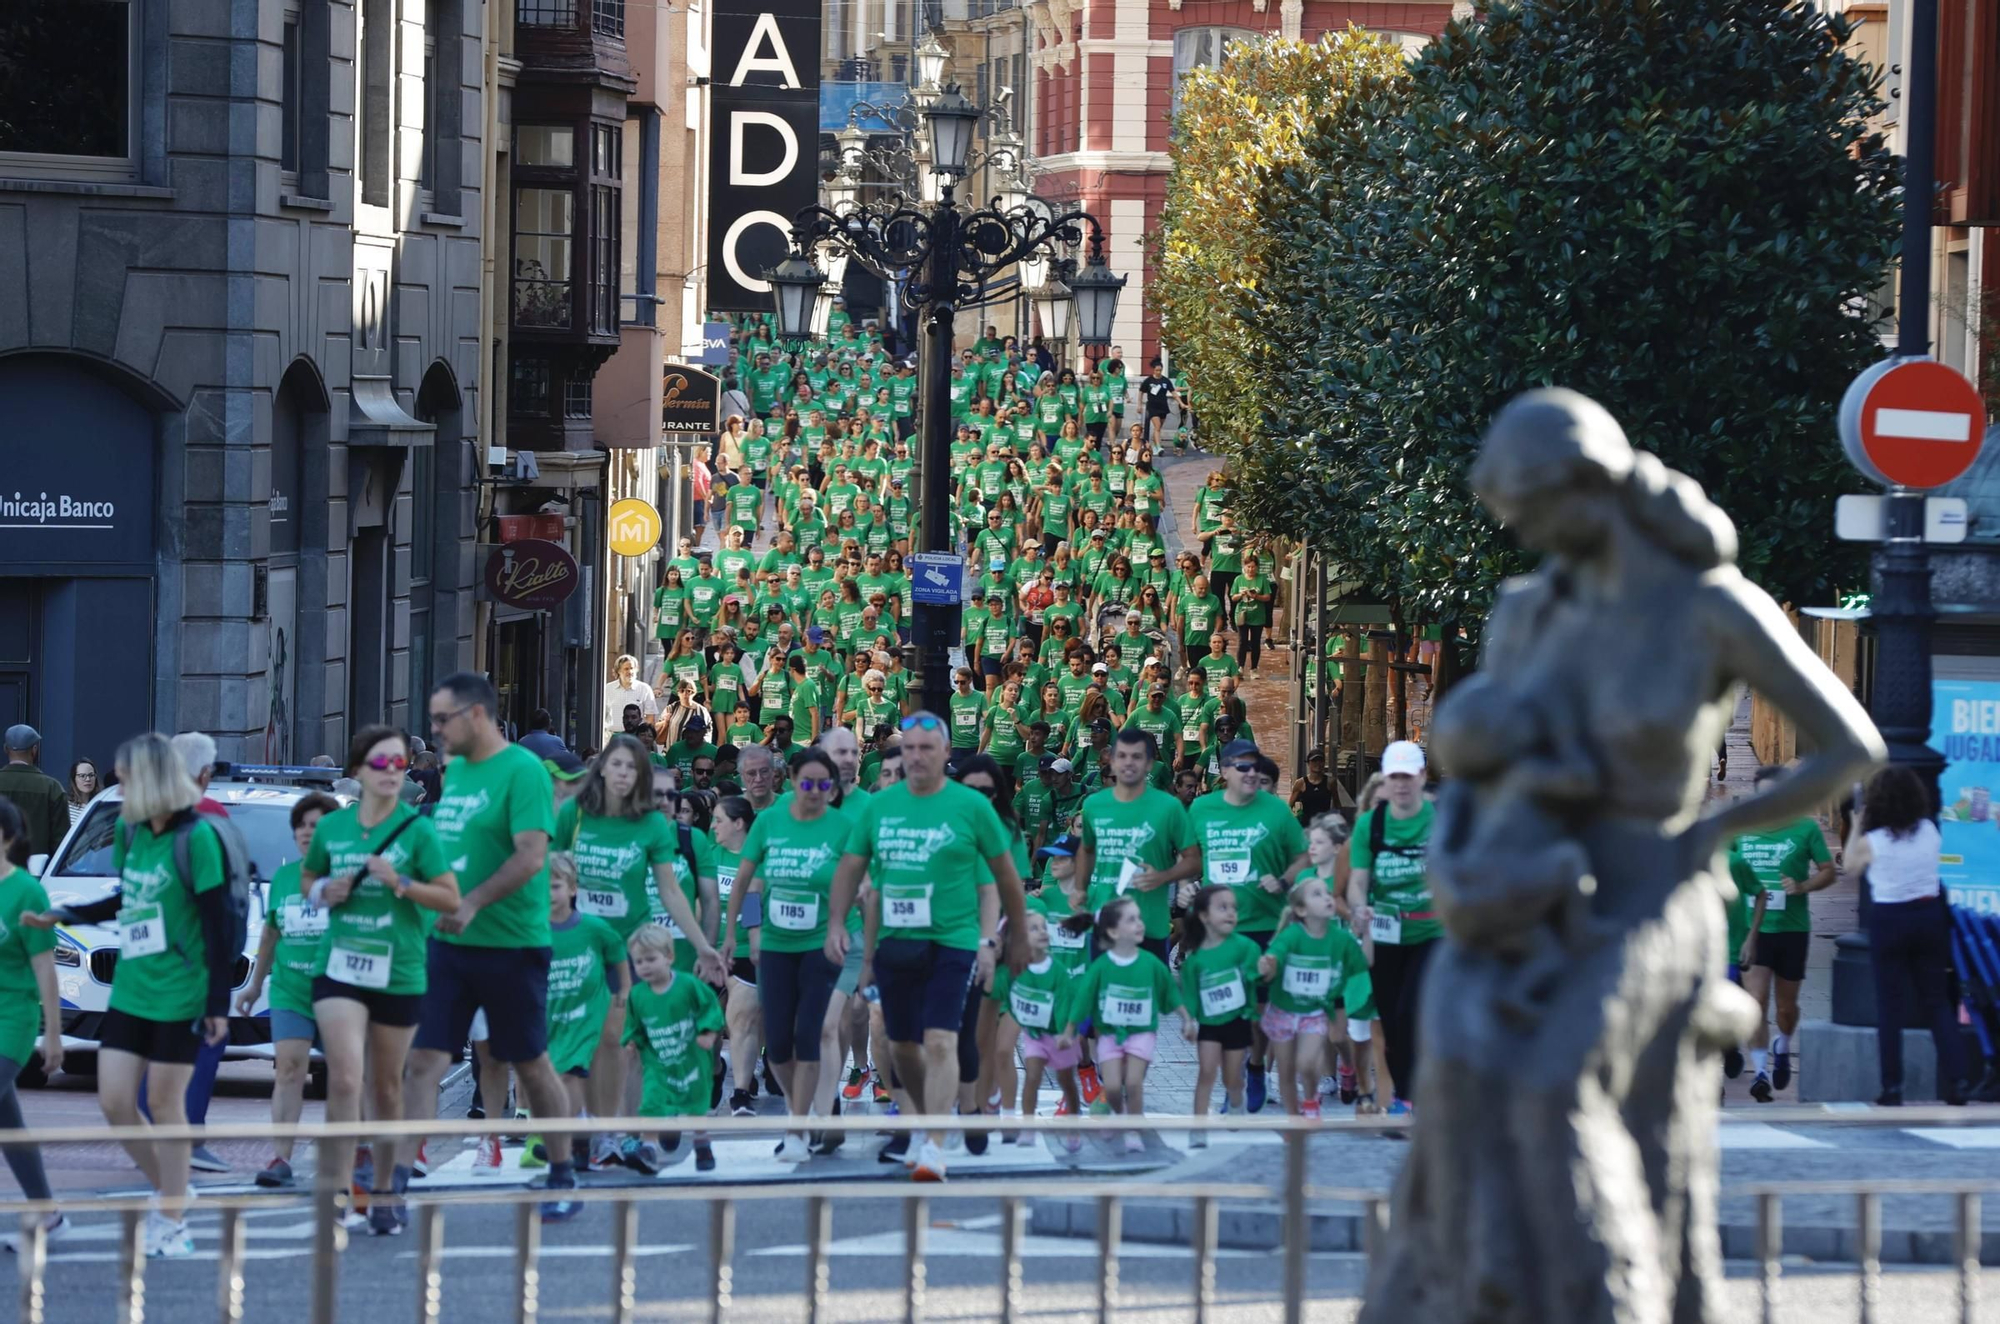
[[[98,1030],[98,1108],[112,1126],[140,1126],[140,1082],[158,1126],[188,1120],[188,1078],[202,1044],[230,1032],[236,918],[222,838],[194,806],[202,790],[172,742],[148,732],[118,748],[124,802],[112,840],[118,890],[80,906],[24,912],[32,928],[118,920],[110,1012]],[[186,860],[182,868],[180,860]],[[188,1258],[186,1140],[132,1140],[126,1152],[154,1188],[146,1256]]]

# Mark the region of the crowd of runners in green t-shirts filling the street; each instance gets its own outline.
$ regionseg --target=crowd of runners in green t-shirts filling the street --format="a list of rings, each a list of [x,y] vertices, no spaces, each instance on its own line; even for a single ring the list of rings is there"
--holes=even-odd
[[[1206,1114],[1218,1082],[1228,1112],[1320,1116],[1338,1098],[1408,1114],[1442,936],[1424,752],[1390,744],[1352,816],[1320,754],[1280,784],[1236,686],[1260,666],[1282,562],[1236,530],[1224,470],[1178,546],[1162,532],[1154,458],[1194,444],[1186,384],[1158,364],[1128,380],[1116,352],[1076,374],[992,334],[966,350],[952,514],[978,590],[954,692],[926,710],[904,664],[910,362],[850,322],[782,346],[750,320],[736,342],[742,410],[664,570],[660,650],[616,662],[602,746],[510,742],[492,684],[456,674],[428,696],[434,804],[406,802],[412,740],[388,726],[350,744],[356,798],[296,802],[298,860],[268,890],[238,996],[240,1014],[270,996],[274,1116],[298,1116],[312,1044],[328,1120],[434,1116],[470,1044],[478,1116],[496,1132],[510,1100],[532,1116],[526,1162],[546,1166],[556,1222],[582,1210],[582,1170],[712,1170],[702,1120],[754,1116],[760,1092],[784,1098],[790,1164],[842,1146],[814,1126],[842,1108],[994,1118],[888,1138],[880,1158],[918,1180],[1024,1136],[1008,1118],[1044,1086],[1058,1114],[1134,1118],[1134,1150],[1148,1110]],[[1338,664],[1318,666],[1338,686]],[[62,1056],[58,922],[120,928],[98,1054],[112,1122],[140,1120],[142,1090],[178,1120],[200,1044],[226,1030],[244,924],[226,834],[164,736],[128,742],[116,780],[114,894],[50,908],[0,862],[0,1128],[20,1124],[12,1080],[36,1034],[50,1068]],[[1750,1050],[1758,1098],[1790,1070],[1802,894],[1830,880],[1806,828],[1732,854],[1732,954],[1778,1008],[1780,1036]],[[22,840],[0,800],[0,850]],[[1148,1098],[1174,1032],[1196,1046],[1192,1096]],[[572,1142],[578,1116],[632,1128]],[[192,1254],[188,1146],[130,1150],[158,1192],[148,1254]],[[46,1198],[34,1150],[6,1158]],[[392,1140],[336,1154],[350,1224],[398,1234],[426,1158]],[[474,1170],[500,1164],[494,1134]],[[290,1186],[290,1154],[258,1182]]]

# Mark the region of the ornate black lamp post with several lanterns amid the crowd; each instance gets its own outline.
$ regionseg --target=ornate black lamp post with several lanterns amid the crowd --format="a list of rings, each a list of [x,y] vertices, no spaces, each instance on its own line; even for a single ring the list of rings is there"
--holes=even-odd
[[[988,282],[1008,266],[1068,262],[1066,254],[1084,244],[1088,230],[1090,256],[1082,270],[1056,288],[1042,278],[1040,294],[1048,298],[1044,316],[1060,316],[1064,328],[1074,320],[1082,344],[1110,344],[1112,314],[1126,278],[1112,274],[1104,262],[1104,232],[1082,210],[1056,214],[1046,204],[1034,206],[1040,200],[1014,196],[960,208],[952,190],[970,168],[982,112],[956,86],[944,86],[918,114],[930,142],[934,200],[892,196],[878,204],[810,206],[792,226],[792,256],[768,278],[778,334],[804,340],[812,334],[814,300],[824,288],[810,254],[840,252],[884,278],[910,272],[902,300],[924,324],[918,388],[922,484],[914,510],[924,556],[916,558],[912,576],[922,576],[924,558],[932,556],[952,560],[950,574],[962,582],[964,560],[956,554],[952,530],[952,326],[958,312],[998,302],[988,294]],[[1018,168],[1018,158],[1010,164]],[[948,654],[960,638],[962,604],[958,596],[950,604],[924,602],[922,592],[912,596],[922,702],[942,712],[952,692]]]

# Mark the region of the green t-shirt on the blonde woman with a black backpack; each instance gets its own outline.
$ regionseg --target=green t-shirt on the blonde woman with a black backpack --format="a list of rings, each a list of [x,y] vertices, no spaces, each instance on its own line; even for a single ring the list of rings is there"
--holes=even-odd
[[[542,782],[548,784],[548,772]],[[210,824],[196,824],[188,838],[192,892],[174,868],[174,826],[154,836],[152,824],[120,822],[112,868],[120,904],[110,1008],[144,1020],[192,1022],[208,1006],[208,944],[194,892],[224,886],[222,840]]]

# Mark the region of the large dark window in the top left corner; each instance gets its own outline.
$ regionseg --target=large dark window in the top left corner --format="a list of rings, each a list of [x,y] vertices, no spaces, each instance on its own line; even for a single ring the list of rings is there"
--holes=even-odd
[[[126,0],[0,4],[0,168],[132,176],[136,10]]]

